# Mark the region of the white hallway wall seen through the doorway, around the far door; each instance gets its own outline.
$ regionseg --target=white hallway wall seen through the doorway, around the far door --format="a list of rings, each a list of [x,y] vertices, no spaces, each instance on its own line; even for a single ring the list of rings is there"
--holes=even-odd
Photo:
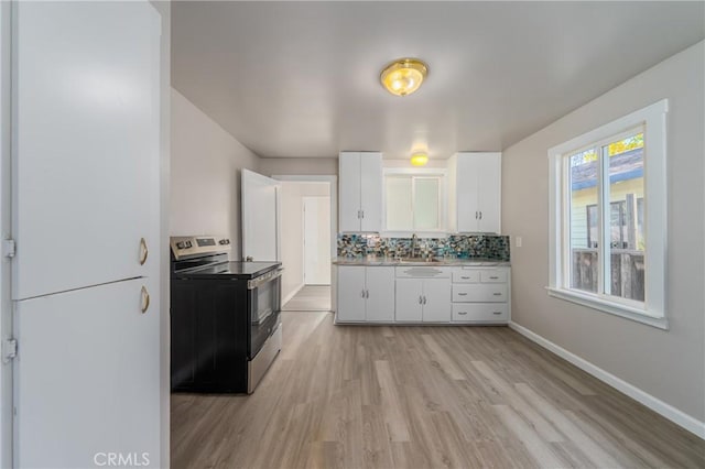
[[[303,198],[329,196],[327,183],[282,181],[282,299],[289,299],[304,285]],[[326,220],[329,222],[329,220]]]

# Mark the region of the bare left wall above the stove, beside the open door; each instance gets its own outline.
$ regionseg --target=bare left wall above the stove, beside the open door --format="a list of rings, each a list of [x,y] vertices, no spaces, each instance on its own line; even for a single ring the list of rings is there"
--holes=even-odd
[[[240,259],[240,170],[259,157],[172,88],[170,236],[225,234]]]

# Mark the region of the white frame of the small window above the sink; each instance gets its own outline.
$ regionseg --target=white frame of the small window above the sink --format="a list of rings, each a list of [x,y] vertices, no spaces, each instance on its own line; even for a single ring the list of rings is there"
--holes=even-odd
[[[387,230],[387,176],[417,176],[417,177],[437,177],[438,178],[438,229],[437,230],[424,230],[424,231],[390,231]],[[383,216],[383,230],[380,233],[383,237],[389,238],[408,238],[415,233],[419,238],[445,238],[447,212],[448,212],[448,196],[447,196],[447,170],[440,167],[386,167],[382,171],[382,216]]]

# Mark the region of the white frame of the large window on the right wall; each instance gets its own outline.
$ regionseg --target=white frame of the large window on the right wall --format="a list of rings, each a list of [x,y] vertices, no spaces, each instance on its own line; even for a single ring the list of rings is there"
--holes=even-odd
[[[549,150],[549,286],[550,296],[604,313],[669,328],[665,312],[666,279],[666,113],[663,99]],[[570,177],[568,153],[606,139],[644,128],[644,302],[633,302],[570,287]]]

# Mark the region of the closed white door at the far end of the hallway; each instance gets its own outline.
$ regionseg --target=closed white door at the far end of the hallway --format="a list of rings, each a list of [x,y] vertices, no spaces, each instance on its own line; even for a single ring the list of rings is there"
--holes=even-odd
[[[330,285],[330,197],[304,197],[304,284]]]

